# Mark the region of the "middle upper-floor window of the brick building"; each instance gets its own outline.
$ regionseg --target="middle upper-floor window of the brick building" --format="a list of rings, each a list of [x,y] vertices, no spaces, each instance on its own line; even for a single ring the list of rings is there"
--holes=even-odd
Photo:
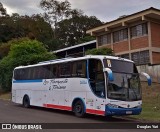
[[[119,42],[128,38],[128,29],[122,29],[113,33],[113,42]]]

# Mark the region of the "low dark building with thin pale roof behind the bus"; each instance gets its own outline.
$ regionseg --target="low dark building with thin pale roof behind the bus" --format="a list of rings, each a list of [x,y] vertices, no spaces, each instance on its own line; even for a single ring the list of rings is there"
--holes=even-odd
[[[64,49],[56,50],[56,51],[53,51],[53,53],[55,53],[60,58],[69,57],[69,56],[78,57],[78,56],[84,56],[85,51],[93,48],[96,48],[96,40],[74,45]]]

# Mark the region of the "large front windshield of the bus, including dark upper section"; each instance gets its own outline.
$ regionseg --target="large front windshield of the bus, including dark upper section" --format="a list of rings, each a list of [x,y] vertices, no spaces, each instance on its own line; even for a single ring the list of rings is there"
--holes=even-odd
[[[114,81],[108,81],[107,83],[107,97],[109,99],[121,101],[141,100],[140,79],[134,63],[104,59],[104,66],[110,68],[114,76]]]

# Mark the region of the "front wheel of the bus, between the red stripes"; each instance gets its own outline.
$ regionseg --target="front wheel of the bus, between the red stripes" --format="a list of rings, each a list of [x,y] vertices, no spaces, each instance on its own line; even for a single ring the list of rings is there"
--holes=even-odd
[[[82,101],[78,100],[75,104],[74,104],[74,114],[77,116],[77,117],[84,117],[84,105],[82,103]]]

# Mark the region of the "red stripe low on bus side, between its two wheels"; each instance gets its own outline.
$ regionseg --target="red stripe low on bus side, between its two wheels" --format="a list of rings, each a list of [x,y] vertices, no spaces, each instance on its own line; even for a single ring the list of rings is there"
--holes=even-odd
[[[61,109],[61,110],[69,110],[71,111],[72,108],[69,106],[63,106],[63,105],[54,105],[54,104],[43,104],[46,108],[54,108],[54,109]]]

